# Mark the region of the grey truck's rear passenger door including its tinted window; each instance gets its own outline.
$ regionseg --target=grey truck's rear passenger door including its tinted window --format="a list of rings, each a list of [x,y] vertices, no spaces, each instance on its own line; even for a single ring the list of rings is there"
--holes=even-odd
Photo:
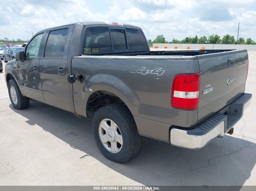
[[[71,111],[67,81],[68,50],[74,25],[48,30],[39,71],[45,103]]]

